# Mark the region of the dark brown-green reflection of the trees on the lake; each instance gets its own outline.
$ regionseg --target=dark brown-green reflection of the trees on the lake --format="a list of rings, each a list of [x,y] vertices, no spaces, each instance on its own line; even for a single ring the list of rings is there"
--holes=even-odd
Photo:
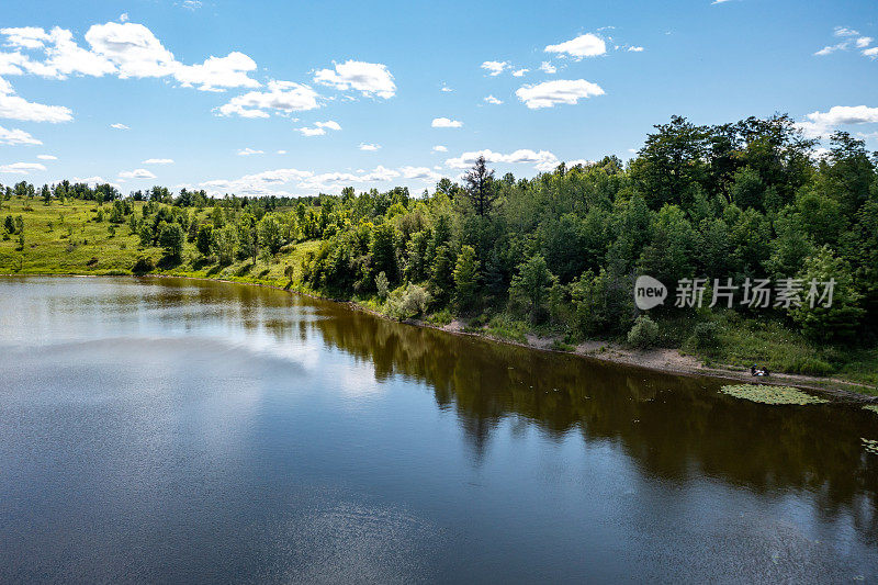
[[[756,492],[807,490],[826,514],[852,511],[878,537],[878,458],[864,452],[878,419],[830,404],[767,406],[719,393],[720,380],[665,374],[424,329],[320,304],[309,327],[374,364],[375,378],[420,381],[454,409],[476,453],[507,417],[560,441],[610,441],[653,476],[708,475]],[[304,325],[304,323],[303,323]],[[864,505],[866,504],[866,505]]]

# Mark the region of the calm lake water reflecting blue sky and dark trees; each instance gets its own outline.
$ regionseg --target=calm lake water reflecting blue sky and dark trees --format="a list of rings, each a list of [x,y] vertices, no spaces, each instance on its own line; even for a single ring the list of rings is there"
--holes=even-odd
[[[280,291],[0,278],[0,582],[878,580],[878,416]]]

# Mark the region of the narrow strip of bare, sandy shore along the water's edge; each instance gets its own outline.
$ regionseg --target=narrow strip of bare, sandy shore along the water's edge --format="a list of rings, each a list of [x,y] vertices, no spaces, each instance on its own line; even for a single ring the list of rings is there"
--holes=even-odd
[[[429,328],[436,329],[439,331],[443,331],[450,335],[458,335],[458,336],[468,336],[479,339],[484,339],[488,342],[497,342],[497,344],[505,344],[510,346],[517,346],[526,349],[532,349],[537,351],[547,351],[552,353],[564,353],[564,355],[572,355],[577,356],[584,359],[590,359],[596,361],[603,362],[610,362],[617,363],[622,365],[630,365],[634,368],[642,368],[645,370],[667,373],[667,374],[675,374],[675,375],[687,375],[687,376],[705,376],[705,378],[713,378],[719,380],[729,380],[734,382],[751,382],[751,383],[758,383],[764,385],[791,385],[796,387],[800,387],[803,390],[809,390],[812,392],[817,392],[826,396],[830,396],[835,400],[835,402],[840,403],[855,403],[855,404],[878,404],[878,396],[864,394],[857,392],[855,390],[848,390],[844,386],[860,386],[860,387],[868,387],[864,386],[863,384],[856,384],[853,382],[847,382],[845,380],[838,380],[833,378],[818,378],[818,376],[810,376],[810,375],[801,375],[801,374],[786,374],[786,373],[774,373],[766,378],[759,378],[757,380],[753,380],[753,376],[746,370],[738,370],[733,369],[732,367],[729,368],[717,368],[717,367],[706,367],[703,365],[697,358],[693,356],[687,356],[680,353],[676,349],[668,349],[668,348],[655,348],[655,349],[646,349],[646,350],[633,350],[621,347],[618,344],[614,344],[610,341],[598,341],[598,340],[588,340],[583,341],[577,345],[573,351],[564,351],[560,349],[555,349],[552,347],[554,338],[551,337],[540,337],[537,335],[527,335],[526,341],[516,341],[514,339],[500,338],[495,337],[486,334],[480,334],[473,330],[464,330],[463,324],[459,319],[454,319],[448,325],[435,325],[432,323],[425,322],[423,319],[405,319],[405,320],[397,320],[392,318],[383,313],[375,311],[373,308],[367,307],[356,301],[350,300],[341,300],[341,299],[331,299],[328,296],[323,296],[319,294],[315,294],[312,292],[302,291],[294,288],[285,288],[285,286],[278,286],[275,284],[267,284],[261,282],[250,282],[245,280],[229,280],[229,279],[219,279],[219,278],[210,278],[210,277],[191,277],[191,275],[178,275],[178,274],[167,274],[167,273],[148,273],[148,274],[83,274],[83,273],[49,273],[49,272],[29,272],[29,273],[16,273],[16,272],[2,272],[0,277],[67,277],[67,278],[100,278],[100,277],[109,277],[109,278],[167,278],[167,279],[187,279],[187,280],[196,280],[196,281],[209,281],[209,282],[226,282],[230,284],[246,284],[250,286],[262,286],[266,289],[273,289],[277,291],[282,291],[291,294],[297,294],[307,299],[318,300],[318,301],[327,301],[337,303],[340,305],[346,305],[351,311],[361,311],[364,313],[369,313],[375,317],[380,317],[383,319],[392,320],[394,323],[399,323],[402,325],[409,325],[413,327],[420,327],[420,328]]]

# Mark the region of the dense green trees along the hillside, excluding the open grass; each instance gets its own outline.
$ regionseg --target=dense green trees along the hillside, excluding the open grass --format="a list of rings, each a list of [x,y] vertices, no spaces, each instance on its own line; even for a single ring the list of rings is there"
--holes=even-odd
[[[615,156],[530,179],[496,177],[480,158],[460,182],[309,198],[212,199],[166,188],[126,198],[111,185],[63,181],[8,195],[111,203],[142,245],[183,261],[283,261],[292,279],[334,297],[378,297],[398,317],[447,311],[476,319],[509,312],[572,337],[624,334],[640,312],[633,282],[830,278],[830,307],[735,305],[822,341],[874,340],[878,324],[875,153],[847,133],[825,150],[786,115],[699,126],[674,116],[628,164]],[[140,212],[131,201],[146,201]],[[14,224],[14,221],[13,221]],[[14,225],[13,225],[14,228]],[[673,318],[684,310],[654,310]],[[642,328],[642,327],[641,327]]]

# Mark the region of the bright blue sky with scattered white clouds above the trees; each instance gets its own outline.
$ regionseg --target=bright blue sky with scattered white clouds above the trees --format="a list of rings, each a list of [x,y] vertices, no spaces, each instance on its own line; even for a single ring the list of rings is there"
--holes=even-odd
[[[0,4],[0,183],[308,194],[786,112],[878,149],[878,3]],[[502,103],[500,103],[502,102]]]

